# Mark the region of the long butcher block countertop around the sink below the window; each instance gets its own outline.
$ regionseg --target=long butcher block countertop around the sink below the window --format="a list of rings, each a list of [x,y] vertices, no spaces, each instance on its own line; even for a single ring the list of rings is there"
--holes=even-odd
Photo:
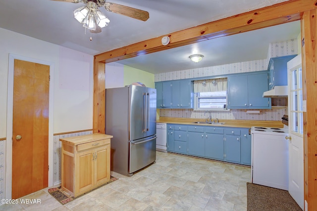
[[[212,119],[212,121],[215,119]],[[224,125],[211,124],[195,124],[194,122],[206,122],[206,119],[191,119],[191,118],[171,118],[160,117],[157,123],[183,124],[183,125],[198,125],[212,127],[283,127],[282,121],[257,121],[257,120],[219,120],[219,123]]]

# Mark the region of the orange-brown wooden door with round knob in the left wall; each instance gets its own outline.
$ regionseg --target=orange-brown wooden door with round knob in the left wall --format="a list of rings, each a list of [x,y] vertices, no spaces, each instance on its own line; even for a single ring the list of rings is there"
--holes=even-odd
[[[49,85],[50,66],[14,60],[12,199],[48,187]]]

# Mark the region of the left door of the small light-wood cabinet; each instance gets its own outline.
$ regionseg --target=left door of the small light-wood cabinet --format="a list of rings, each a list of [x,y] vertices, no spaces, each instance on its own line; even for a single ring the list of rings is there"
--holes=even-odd
[[[75,197],[94,185],[95,151],[87,150],[76,155]]]

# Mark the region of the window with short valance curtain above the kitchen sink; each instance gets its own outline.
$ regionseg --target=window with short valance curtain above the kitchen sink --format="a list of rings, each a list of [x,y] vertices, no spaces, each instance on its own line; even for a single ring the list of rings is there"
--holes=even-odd
[[[212,79],[194,82],[195,110],[227,110],[227,79]]]

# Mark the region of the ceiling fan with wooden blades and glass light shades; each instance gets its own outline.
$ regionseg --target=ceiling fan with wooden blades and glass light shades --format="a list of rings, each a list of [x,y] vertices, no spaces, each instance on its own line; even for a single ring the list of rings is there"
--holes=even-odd
[[[101,28],[107,26],[110,20],[98,9],[105,7],[107,11],[125,15],[138,20],[146,21],[149,19],[149,12],[124,6],[121,4],[106,2],[106,0],[55,0],[71,3],[82,2],[86,4],[74,10],[74,18],[83,24],[83,27],[92,33],[100,33]]]

